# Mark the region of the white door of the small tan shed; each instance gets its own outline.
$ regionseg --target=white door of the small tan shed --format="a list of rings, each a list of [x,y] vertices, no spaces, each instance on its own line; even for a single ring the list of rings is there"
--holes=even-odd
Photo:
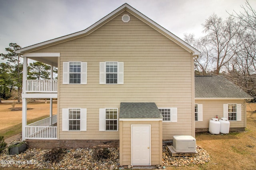
[[[150,125],[132,125],[132,165],[150,165]]]

